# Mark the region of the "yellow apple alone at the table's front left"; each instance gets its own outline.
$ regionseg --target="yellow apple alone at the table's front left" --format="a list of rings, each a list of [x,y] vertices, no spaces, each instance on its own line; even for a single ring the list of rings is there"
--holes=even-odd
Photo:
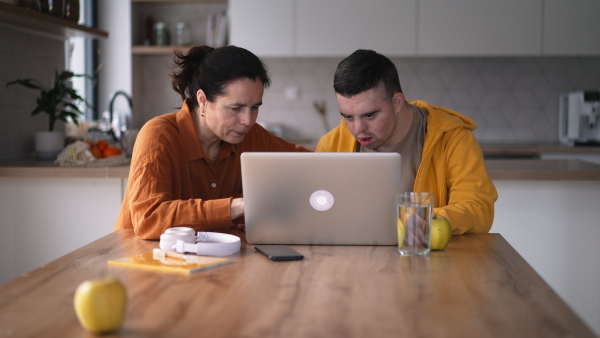
[[[85,281],[77,287],[73,305],[84,328],[94,333],[116,331],[125,316],[125,287],[113,278]]]

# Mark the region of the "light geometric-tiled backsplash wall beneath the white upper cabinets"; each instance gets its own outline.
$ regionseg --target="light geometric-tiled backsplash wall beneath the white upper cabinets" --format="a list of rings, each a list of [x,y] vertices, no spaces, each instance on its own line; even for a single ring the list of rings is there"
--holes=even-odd
[[[139,93],[144,121],[180,105],[167,74],[171,57],[146,57],[140,66],[146,86]],[[339,124],[332,82],[340,58],[264,58],[272,84],[265,91],[260,123],[284,125],[288,138],[316,142]],[[558,142],[558,94],[600,89],[600,57],[392,58],[409,100],[453,109],[478,125],[482,143]],[[143,72],[141,70],[144,70]],[[150,75],[148,70],[155,70]],[[135,78],[135,77],[134,77]],[[138,77],[139,78],[139,77]],[[297,89],[296,100],[285,92]],[[325,102],[327,123],[313,107]]]

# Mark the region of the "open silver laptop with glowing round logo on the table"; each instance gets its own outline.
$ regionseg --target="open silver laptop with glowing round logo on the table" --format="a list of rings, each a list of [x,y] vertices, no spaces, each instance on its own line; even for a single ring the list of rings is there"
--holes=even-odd
[[[397,245],[397,153],[241,155],[250,244]]]

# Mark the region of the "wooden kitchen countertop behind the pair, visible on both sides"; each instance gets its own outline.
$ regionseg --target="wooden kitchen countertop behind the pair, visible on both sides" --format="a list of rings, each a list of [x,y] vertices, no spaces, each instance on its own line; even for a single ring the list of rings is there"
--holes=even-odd
[[[600,181],[600,165],[581,160],[488,159],[493,180]],[[60,167],[35,159],[0,161],[0,177],[127,178],[129,166]]]

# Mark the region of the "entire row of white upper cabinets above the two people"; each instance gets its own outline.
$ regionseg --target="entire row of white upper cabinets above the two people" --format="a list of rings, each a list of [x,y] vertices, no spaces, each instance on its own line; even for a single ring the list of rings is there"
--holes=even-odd
[[[231,43],[259,56],[600,54],[597,0],[230,0],[229,10]]]

